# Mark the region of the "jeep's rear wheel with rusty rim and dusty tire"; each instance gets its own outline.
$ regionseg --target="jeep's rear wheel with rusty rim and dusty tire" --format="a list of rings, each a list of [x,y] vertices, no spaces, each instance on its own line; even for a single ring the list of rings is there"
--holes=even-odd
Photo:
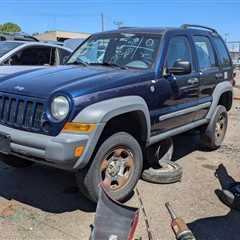
[[[222,145],[228,126],[228,113],[224,106],[217,106],[213,117],[201,133],[201,145],[216,150]]]

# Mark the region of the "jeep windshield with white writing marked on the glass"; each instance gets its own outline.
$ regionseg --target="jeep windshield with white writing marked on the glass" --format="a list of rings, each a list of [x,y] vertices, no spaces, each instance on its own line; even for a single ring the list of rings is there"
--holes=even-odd
[[[148,69],[155,62],[161,35],[111,33],[90,37],[68,60],[68,64],[94,64]]]

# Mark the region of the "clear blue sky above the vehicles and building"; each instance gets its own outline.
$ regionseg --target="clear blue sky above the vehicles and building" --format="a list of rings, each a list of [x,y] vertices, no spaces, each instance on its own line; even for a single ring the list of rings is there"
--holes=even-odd
[[[195,23],[216,28],[228,40],[240,40],[239,0],[0,0],[0,23],[18,23],[25,32],[66,30],[97,32],[115,21],[127,26],[179,26]]]

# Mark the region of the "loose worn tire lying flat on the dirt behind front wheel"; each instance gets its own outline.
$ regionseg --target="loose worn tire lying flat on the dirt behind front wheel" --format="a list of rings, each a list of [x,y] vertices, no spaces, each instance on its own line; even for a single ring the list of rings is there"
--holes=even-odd
[[[152,183],[175,183],[181,181],[182,167],[171,161],[161,162],[159,168],[149,168],[143,171],[142,178]]]

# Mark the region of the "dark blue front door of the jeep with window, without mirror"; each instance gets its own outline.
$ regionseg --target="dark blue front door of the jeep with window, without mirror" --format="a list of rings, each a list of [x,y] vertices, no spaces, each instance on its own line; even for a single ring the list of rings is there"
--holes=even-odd
[[[161,91],[169,86],[170,94],[162,99],[159,109],[154,111],[155,122],[152,135],[174,129],[191,123],[196,116],[196,106],[199,98],[199,73],[196,72],[193,61],[192,46],[187,35],[170,36],[167,40],[167,53],[164,69],[174,67],[179,60],[188,61],[192,71],[186,75],[167,75],[159,80]]]

